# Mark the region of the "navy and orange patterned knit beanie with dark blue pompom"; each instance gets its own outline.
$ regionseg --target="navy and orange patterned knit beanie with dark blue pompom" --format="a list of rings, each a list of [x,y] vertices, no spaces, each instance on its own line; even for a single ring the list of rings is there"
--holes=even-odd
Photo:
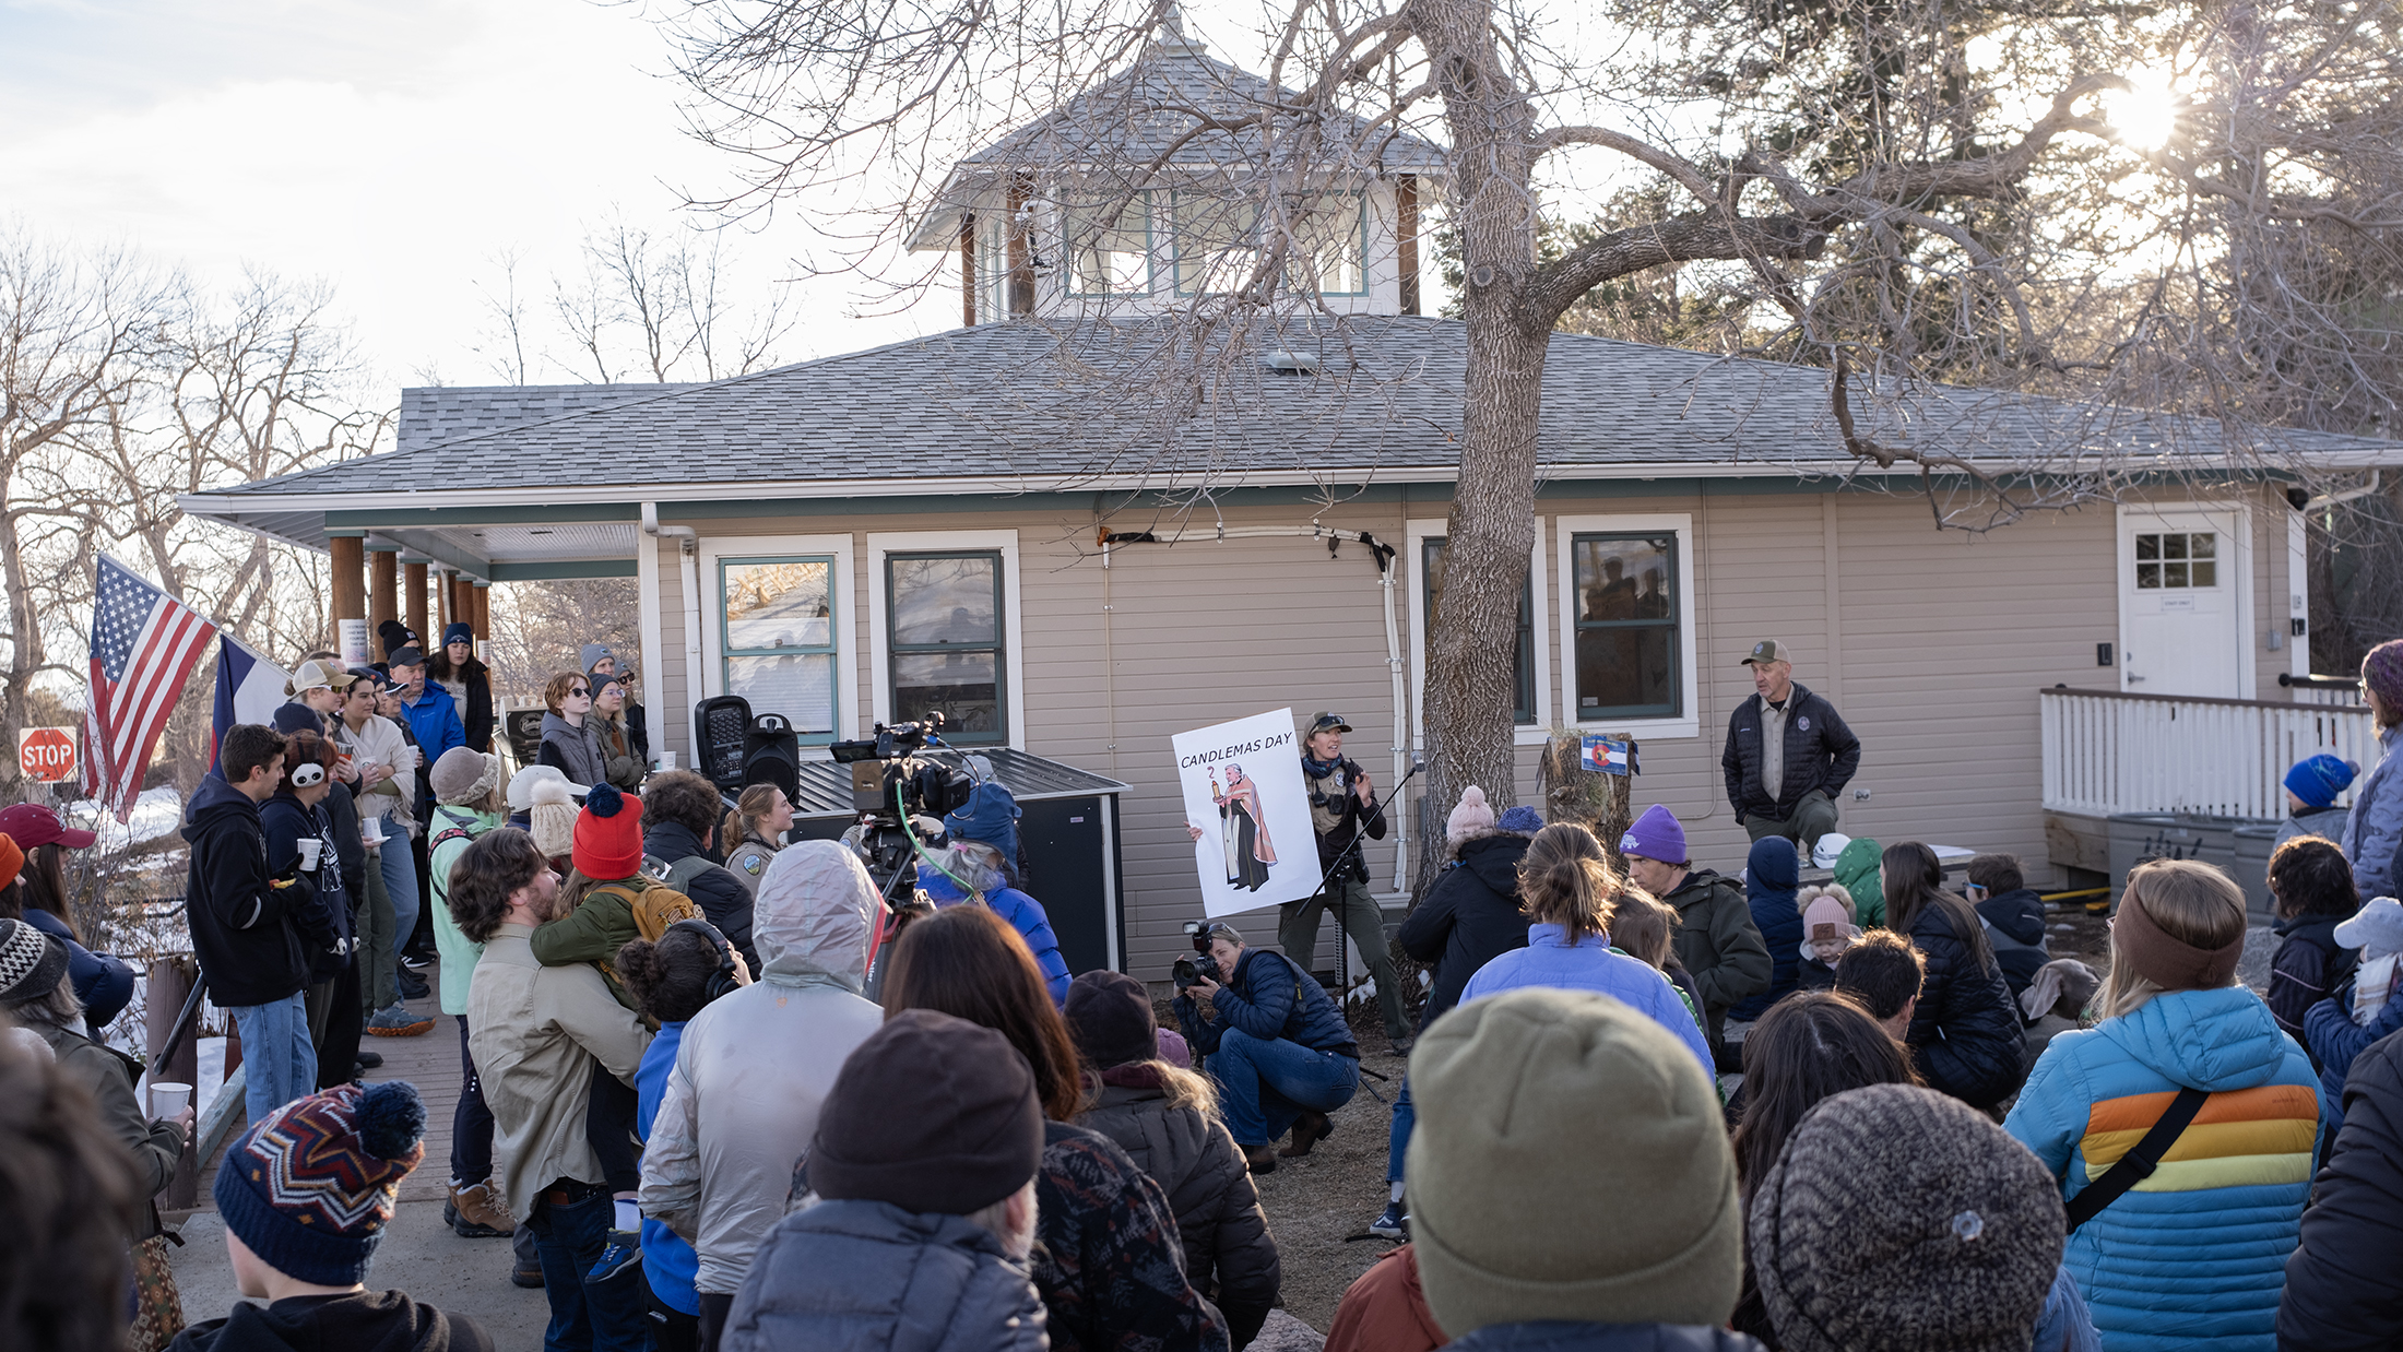
[[[394,1194],[425,1157],[423,1136],[425,1105],[406,1081],[334,1085],[286,1102],[226,1148],[216,1210],[286,1278],[363,1282]]]

